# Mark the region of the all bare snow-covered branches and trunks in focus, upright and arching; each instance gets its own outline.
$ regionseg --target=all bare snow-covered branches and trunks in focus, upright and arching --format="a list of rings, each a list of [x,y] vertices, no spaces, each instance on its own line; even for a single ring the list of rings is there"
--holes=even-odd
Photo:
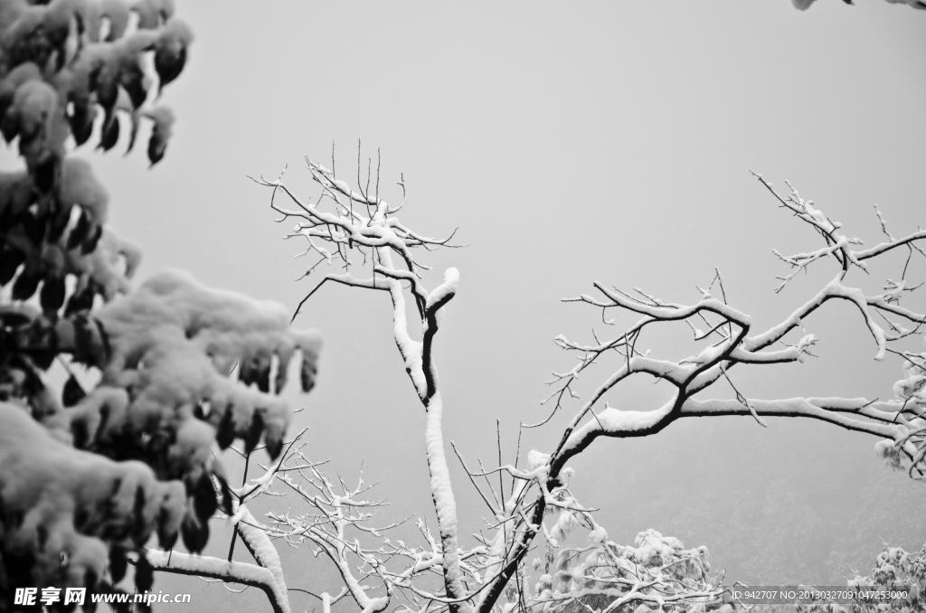
[[[687,305],[662,300],[643,290],[624,292],[598,282],[594,283],[597,295],[568,299],[600,309],[606,325],[614,326],[614,320],[607,319],[609,310],[636,313],[639,319],[606,339],[595,335],[592,343],[565,336],[555,339],[558,346],[576,357],[576,363],[565,372],[555,373],[548,382],[552,393],[544,403],[552,404],[550,416],[527,428],[543,426],[557,412],[568,410],[571,401],[579,400],[575,390],[579,376],[594,364],[606,364],[608,357],[615,359],[610,374],[589,399],[574,409],[574,416],[550,453],[532,451],[522,468],[517,464],[501,465],[499,457],[500,466],[476,470],[469,468],[454,448],[472,485],[491,511],[486,533],[475,544],[464,545],[457,534],[457,504],[442,430],[444,404],[432,357],[442,309],[457,293],[460,275],[457,269],[447,269],[443,281],[429,290],[424,284],[429,269],[415,255],[416,249],[452,246],[453,234],[435,239],[407,227],[396,216],[405,202],[399,206],[385,202],[379,195],[379,177],[373,189],[370,181],[366,187],[355,188],[317,162],[307,159],[307,169],[320,187],[314,199],[294,194],[282,181],[282,175],[272,181],[257,181],[272,191],[270,206],[282,215],[278,221],[296,221],[287,238],[305,241],[303,255],[319,257],[308,272],[325,263],[336,263],[343,269],[324,275],[296,308],[294,318],[307,300],[330,282],[389,295],[394,341],[425,409],[425,449],[437,519],[436,534],[424,522],[419,523],[424,545],[391,542],[381,537],[383,528],[370,523],[378,503],[361,497],[367,491],[362,482],[353,489],[344,482],[332,484],[307,457],[284,457],[283,466],[295,466],[288,462],[296,462],[301,468],[282,471],[277,479],[298,494],[306,507],[270,513],[267,533],[290,544],[308,544],[316,555],[323,553],[332,560],[344,588],[333,596],[320,594],[326,611],[332,602],[345,596],[368,613],[385,610],[394,600],[407,610],[447,608],[452,613],[488,613],[496,608],[505,613],[515,608],[603,613],[658,608],[731,610],[733,605],[724,600],[720,578],[709,575],[705,548],[685,549],[677,539],[658,532],[642,533],[633,547],[612,543],[605,529],[595,522],[593,509],[582,506],[569,493],[569,460],[595,439],[649,436],[677,419],[740,415],[763,426],[763,418],[768,416],[820,419],[879,437],[882,440],[876,450],[882,457],[896,467],[904,466],[915,479],[926,476],[926,421],[921,417],[926,406],[922,395],[926,354],[894,348],[898,341],[915,338],[926,323],[926,315],[901,305],[902,299],[919,287],[908,280],[909,265],[913,256],[923,255],[918,243],[926,239],[926,231],[895,238],[876,208],[886,240],[863,249],[861,240],[845,235],[839,222],[828,218],[790,184],[787,194],[779,194],[770,182],[756,175],[777,204],[806,224],[822,243],[819,248],[793,256],[775,252],[789,267],[787,274],[779,278],[777,291],[818,261],[836,264],[832,281],[765,331],[754,331],[749,315],[728,302],[723,279],[716,270],[707,287],[699,288],[699,299]],[[857,270],[869,273],[871,260],[895,249],[907,251],[907,260],[899,279],[888,279],[881,294],[865,294],[849,284],[850,274]],[[753,399],[741,394],[733,382],[738,370],[800,363],[813,355],[812,348],[819,341],[805,330],[805,325],[832,300],[844,300],[857,308],[874,340],[875,359],[888,355],[901,358],[905,379],[895,385],[895,400],[835,395]],[[644,350],[644,331],[682,321],[697,345],[693,355],[671,360]],[[667,385],[669,402],[648,410],[609,407],[603,400],[605,395],[637,374],[649,375]],[[716,383],[721,384],[717,387],[731,390],[732,397],[718,396]],[[486,484],[478,484],[477,479],[494,478],[496,474],[510,480],[510,490],[504,482],[497,489],[488,479]],[[562,548],[565,534],[579,528],[588,532],[587,545]],[[548,553],[545,564],[539,559],[534,563],[534,569],[544,569],[544,574],[532,590],[528,587],[526,557],[538,537],[546,542]],[[376,542],[361,544],[361,538]],[[380,583],[379,591],[372,591],[372,580]],[[503,596],[507,604],[502,604]]]

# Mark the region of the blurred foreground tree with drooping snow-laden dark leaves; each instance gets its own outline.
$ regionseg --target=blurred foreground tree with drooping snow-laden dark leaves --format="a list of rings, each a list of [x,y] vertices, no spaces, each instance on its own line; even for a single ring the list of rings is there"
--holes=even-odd
[[[171,0],[0,0],[0,131],[23,162],[0,173],[0,610],[14,587],[117,589],[129,562],[150,588],[159,555],[173,563],[145,549],[154,534],[197,553],[220,502],[232,511],[213,444],[280,456],[297,352],[313,385],[318,334],[290,330],[282,306],[181,271],[132,290],[140,251],[72,154],[102,115],[98,148],[124,125],[131,150],[149,122],[161,160],[160,94],[192,40]]]

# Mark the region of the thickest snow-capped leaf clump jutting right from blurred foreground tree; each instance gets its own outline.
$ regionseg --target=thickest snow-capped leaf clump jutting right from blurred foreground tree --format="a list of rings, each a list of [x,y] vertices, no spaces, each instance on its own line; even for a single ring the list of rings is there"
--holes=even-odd
[[[317,332],[290,330],[280,305],[206,288],[181,271],[155,275],[94,315],[108,348],[100,386],[50,425],[94,447],[136,425],[176,432],[156,463],[171,478],[204,465],[213,440],[224,448],[242,438],[250,450],[263,436],[270,456],[280,454],[289,409],[270,393],[282,390],[297,351],[303,389],[312,387]],[[236,364],[244,385],[228,376]],[[127,389],[131,400],[119,394]]]

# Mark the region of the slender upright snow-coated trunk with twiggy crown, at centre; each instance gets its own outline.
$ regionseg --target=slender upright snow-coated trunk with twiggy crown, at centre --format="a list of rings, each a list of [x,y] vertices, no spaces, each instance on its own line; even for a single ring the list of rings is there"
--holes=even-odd
[[[323,262],[338,262],[344,269],[343,273],[325,275],[296,308],[294,318],[308,298],[327,281],[389,293],[393,304],[394,341],[415,392],[426,411],[425,448],[442,548],[443,598],[449,604],[452,613],[457,613],[457,610],[466,609],[468,606],[462,600],[465,591],[464,570],[457,552],[457,508],[444,452],[443,401],[438,388],[432,346],[440,326],[441,311],[457,293],[459,273],[457,269],[447,269],[444,272],[444,281],[432,291],[428,291],[423,284],[421,273],[429,270],[429,267],[412,255],[415,248],[431,250],[442,246],[454,246],[450,244],[454,234],[451,233],[445,239],[433,239],[411,230],[399,221],[395,214],[402,209],[405,202],[401,206],[390,206],[380,197],[379,165],[375,187],[371,191],[369,172],[367,186],[364,188],[360,184],[359,169],[357,170],[355,189],[346,181],[338,179],[333,169],[327,169],[309,159],[306,162],[312,179],[320,188],[320,194],[314,202],[311,199],[302,200],[293,194],[282,182],[282,174],[275,181],[264,178],[255,180],[272,190],[270,207],[282,214],[280,221],[290,218],[298,220],[287,238],[306,241],[306,251],[300,255],[314,252],[320,256],[320,259],[307,269],[306,274],[310,274]],[[400,185],[404,193],[404,181],[400,182]],[[295,208],[284,208],[278,204],[277,198],[280,196],[288,198],[291,206]],[[397,256],[397,262],[394,256]],[[357,263],[351,257],[361,257],[362,262]],[[406,312],[407,291],[414,301],[417,314],[417,320],[411,324],[412,330],[409,330]],[[413,337],[418,332],[420,340]],[[331,548],[325,551],[335,561],[336,566],[342,569],[346,565],[342,560],[343,550],[336,544],[325,546]],[[346,571],[342,570],[342,576],[350,594],[361,607],[379,610],[378,607],[388,604],[388,599],[380,602],[362,595],[362,590],[350,580]]]

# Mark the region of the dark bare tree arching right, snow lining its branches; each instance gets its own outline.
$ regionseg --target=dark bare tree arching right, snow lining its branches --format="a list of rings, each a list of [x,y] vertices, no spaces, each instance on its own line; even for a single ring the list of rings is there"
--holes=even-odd
[[[509,505],[511,508],[518,507],[519,513],[503,513],[499,517],[497,525],[504,526],[510,522],[511,536],[505,539],[506,555],[497,561],[499,572],[490,580],[478,601],[477,609],[480,613],[488,613],[502,594],[505,594],[509,601],[505,606],[506,610],[514,607],[518,607],[519,611],[527,610],[531,606],[530,600],[525,601],[518,594],[524,592],[523,559],[533,539],[543,532],[548,543],[555,545],[564,528],[580,519],[585,522],[594,521],[590,513],[569,500],[565,483],[568,482],[571,471],[566,467],[566,463],[599,436],[647,436],[661,431],[682,417],[743,415],[757,419],[763,425],[763,416],[806,417],[828,421],[847,430],[869,432],[878,436],[882,441],[876,445],[876,450],[889,463],[898,468],[906,466],[914,478],[926,477],[926,420],[922,417],[926,409],[926,352],[915,354],[892,347],[896,341],[919,333],[922,324],[926,323],[926,315],[920,313],[921,308],[910,309],[900,305],[902,298],[919,287],[907,281],[907,273],[910,259],[917,254],[923,255],[918,243],[926,238],[926,235],[917,231],[903,239],[895,239],[887,232],[879,211],[882,228],[885,234],[888,234],[890,242],[866,251],[857,251],[856,248],[862,244],[861,241],[845,236],[841,231],[842,224],[827,217],[812,201],[804,200],[794,189],[791,190],[791,194],[785,196],[777,194],[770,183],[761,177],[758,179],[782,207],[789,209],[796,219],[806,223],[823,242],[819,249],[803,254],[776,255],[793,269],[792,272],[806,269],[811,264],[834,260],[839,269],[835,278],[779,324],[758,333],[753,330],[752,318],[729,303],[719,270],[715,270],[713,280],[707,289],[698,288],[700,299],[690,304],[669,302],[639,288],[624,291],[598,282],[594,283],[596,295],[583,294],[568,299],[567,302],[578,302],[601,309],[602,321],[609,326],[614,326],[615,320],[607,319],[608,309],[629,311],[641,317],[623,332],[612,334],[605,339],[594,335],[594,343],[580,343],[562,335],[554,339],[559,347],[576,358],[576,363],[569,370],[555,372],[553,379],[547,382],[552,389],[541,404],[553,401],[554,407],[547,417],[533,426],[548,422],[557,411],[565,409],[570,399],[579,399],[576,384],[590,366],[603,362],[606,356],[616,356],[617,364],[610,374],[597,384],[594,392],[570,419],[553,453],[533,454],[530,474],[535,477],[534,481],[529,482],[528,487],[515,486],[514,491],[524,493],[532,489],[536,490],[537,494],[519,498],[514,502],[508,501],[504,508],[508,509]],[[847,275],[851,269],[869,272],[869,261],[873,257],[898,247],[907,249],[907,262],[901,272],[900,281],[888,280],[884,294],[868,295],[848,283]],[[781,290],[792,277],[793,274],[782,277],[779,289]],[[845,300],[857,308],[865,328],[877,346],[876,359],[883,359],[891,353],[905,360],[905,379],[895,384],[896,399],[870,401],[864,398],[833,397],[758,400],[741,393],[733,381],[736,367],[757,368],[766,364],[803,362],[807,356],[813,356],[813,347],[820,343],[820,339],[815,334],[805,331],[805,323],[818,308],[831,300]],[[699,344],[693,355],[680,360],[658,358],[641,346],[644,332],[650,332],[655,326],[665,322],[674,321],[684,321],[693,332],[694,342]],[[799,331],[799,337],[789,336],[795,331]],[[607,402],[603,401],[605,395],[619,383],[641,373],[670,386],[672,394],[668,402],[649,409],[631,409],[609,407]],[[695,397],[695,394],[704,392],[721,381],[732,388],[732,399]],[[603,402],[604,407],[601,407]],[[516,483],[519,478],[528,474],[527,471],[513,469],[507,469],[507,472]],[[470,471],[474,485],[475,477],[479,474]],[[488,499],[486,504],[492,507]],[[544,516],[555,508],[559,509],[560,519],[557,519],[552,529],[547,529],[543,523]],[[607,551],[610,551],[610,548]],[[509,582],[514,582],[519,587],[506,587]],[[581,595],[577,600],[574,597],[575,589],[579,590],[578,594],[582,594],[581,583],[569,589],[564,587],[559,592],[565,595],[556,596],[552,588],[552,578],[547,577],[547,581],[542,583],[544,584],[538,590],[540,594],[545,595],[542,595],[542,602],[538,601],[538,604],[543,606],[543,610],[553,607],[570,612],[611,611],[614,607],[619,607],[619,603],[625,602],[621,600],[625,596],[617,593],[607,594],[607,600],[582,601]],[[643,584],[645,582],[641,583]],[[713,591],[716,585],[713,584],[709,587],[688,584],[686,589],[691,595],[698,594],[701,587],[705,588],[703,594],[717,595]],[[629,590],[628,594],[641,594],[635,591],[636,587]],[[591,597],[591,594],[589,595]],[[597,595],[604,597],[605,594]],[[665,593],[660,592],[659,597],[665,598]],[[697,597],[700,596],[695,595],[694,599]],[[645,601],[646,598],[639,600]],[[573,605],[569,606],[566,603]],[[692,610],[705,610],[701,604],[684,605],[688,606],[694,607]],[[660,602],[654,597],[645,602],[640,610],[651,610],[650,607],[662,607],[666,610],[669,602]],[[708,610],[710,607],[732,610],[729,603],[721,605],[716,600]]]

